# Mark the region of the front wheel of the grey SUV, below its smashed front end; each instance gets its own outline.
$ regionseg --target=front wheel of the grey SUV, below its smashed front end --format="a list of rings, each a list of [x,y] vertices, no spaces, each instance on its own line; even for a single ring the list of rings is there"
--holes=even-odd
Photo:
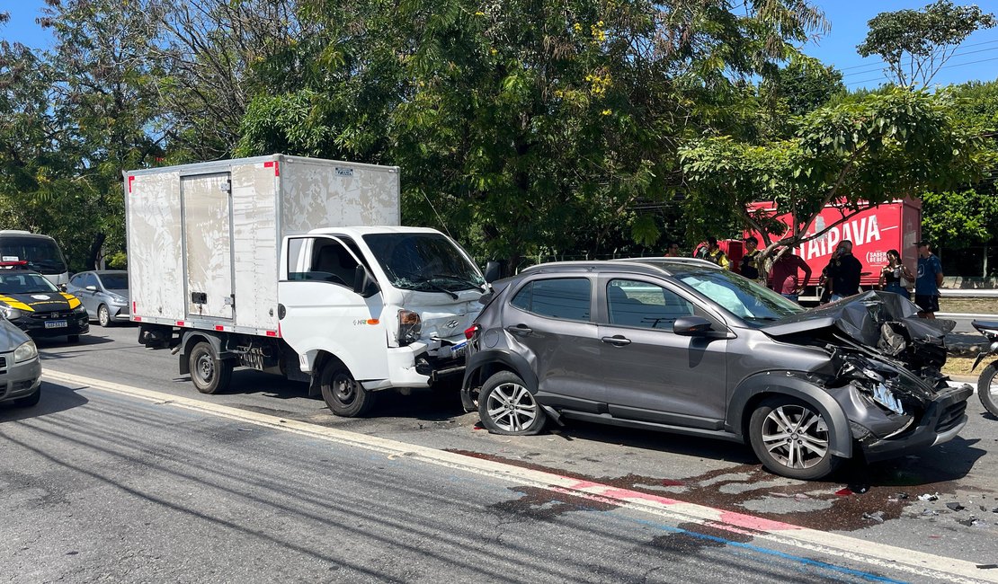
[[[831,453],[831,429],[817,410],[793,398],[770,398],[752,412],[749,442],[770,472],[800,480],[831,473],[840,459]]]

